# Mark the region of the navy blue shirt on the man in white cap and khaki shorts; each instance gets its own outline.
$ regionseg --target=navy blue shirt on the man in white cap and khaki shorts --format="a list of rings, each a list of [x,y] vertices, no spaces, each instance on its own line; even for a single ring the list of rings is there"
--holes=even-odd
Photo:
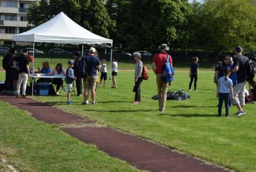
[[[85,58],[88,76],[97,76],[97,66],[100,65],[100,59],[93,55],[88,55]]]

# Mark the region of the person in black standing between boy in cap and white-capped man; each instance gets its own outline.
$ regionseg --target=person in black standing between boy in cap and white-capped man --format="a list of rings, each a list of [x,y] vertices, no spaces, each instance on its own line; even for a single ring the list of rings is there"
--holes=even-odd
[[[82,96],[82,77],[80,76],[80,72],[79,72],[79,66],[80,66],[82,57],[80,56],[80,52],[74,52],[73,56],[75,58],[73,69],[76,77],[75,84],[77,89],[77,96]]]

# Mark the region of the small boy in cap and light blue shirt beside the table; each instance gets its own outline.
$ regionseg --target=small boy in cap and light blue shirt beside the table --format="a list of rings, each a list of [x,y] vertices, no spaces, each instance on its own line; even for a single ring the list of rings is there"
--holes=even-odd
[[[67,94],[67,98],[68,104],[72,104],[73,102],[71,101],[71,92],[72,92],[72,87],[73,87],[73,83],[75,78],[74,75],[74,70],[72,69],[73,67],[73,61],[69,60],[68,61],[68,69],[66,69],[66,88],[68,89],[68,94]]]

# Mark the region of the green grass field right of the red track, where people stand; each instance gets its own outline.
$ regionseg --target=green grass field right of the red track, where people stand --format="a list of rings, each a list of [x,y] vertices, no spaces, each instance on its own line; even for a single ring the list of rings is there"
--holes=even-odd
[[[241,118],[235,115],[217,118],[213,73],[200,70],[198,92],[188,92],[188,71],[177,69],[169,90],[184,89],[191,98],[168,100],[164,114],[156,110],[158,103],[151,99],[157,92],[152,72],[149,73],[149,80],[142,83],[142,100],[138,105],[132,104],[134,72],[128,70],[118,72],[118,89],[111,89],[110,95],[107,87],[97,89],[98,104],[95,106],[81,105],[82,97],[74,95],[71,97],[73,105],[66,105],[64,95],[33,98],[97,120],[100,125],[158,142],[234,171],[256,171],[256,105],[246,105],[246,115]],[[232,107],[230,114],[235,112],[237,109]]]

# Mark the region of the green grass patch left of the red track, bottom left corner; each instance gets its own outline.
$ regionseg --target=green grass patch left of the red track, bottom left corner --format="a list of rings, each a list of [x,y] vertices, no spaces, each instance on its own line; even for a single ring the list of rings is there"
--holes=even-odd
[[[0,101],[0,155],[19,171],[137,171]],[[0,171],[6,164],[0,163]]]

